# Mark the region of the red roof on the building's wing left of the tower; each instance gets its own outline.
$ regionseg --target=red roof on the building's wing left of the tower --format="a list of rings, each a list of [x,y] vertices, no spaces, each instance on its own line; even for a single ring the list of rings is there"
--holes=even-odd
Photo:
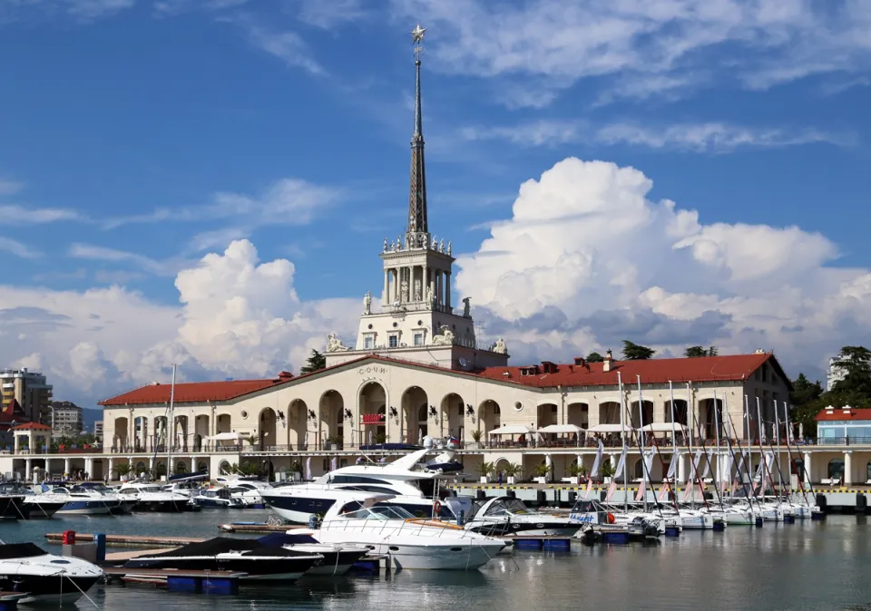
[[[176,403],[198,403],[209,401],[228,401],[243,394],[269,388],[283,383],[289,377],[269,380],[230,380],[227,382],[184,382],[175,384]],[[170,402],[171,384],[149,384],[129,393],[119,394],[112,399],[101,401],[101,405],[141,405],[143,403],[164,404]]]

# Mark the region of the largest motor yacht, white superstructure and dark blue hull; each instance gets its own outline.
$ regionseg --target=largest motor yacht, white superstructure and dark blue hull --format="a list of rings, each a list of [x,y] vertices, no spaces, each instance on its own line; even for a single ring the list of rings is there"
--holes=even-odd
[[[281,518],[298,524],[308,523],[313,515],[325,514],[347,491],[429,499],[429,502],[437,500],[449,506],[456,516],[460,511],[465,511],[467,515],[471,506],[457,499],[452,490],[439,486],[439,481],[446,476],[444,470],[438,467],[453,464],[450,461],[453,454],[445,452],[435,465],[418,465],[429,451],[415,451],[385,464],[349,465],[308,483],[261,489],[259,494],[269,509]]]

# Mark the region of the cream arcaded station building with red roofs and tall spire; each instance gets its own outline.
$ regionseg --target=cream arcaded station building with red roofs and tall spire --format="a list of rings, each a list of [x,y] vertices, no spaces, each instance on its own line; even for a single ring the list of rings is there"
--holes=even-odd
[[[380,307],[367,293],[355,341],[346,345],[328,336],[325,369],[177,383],[174,390],[170,383],[152,383],[123,393],[102,402],[100,451],[51,451],[40,425],[13,427],[15,447],[0,455],[0,472],[29,479],[34,469],[84,470],[117,479],[118,465],[159,472],[171,456],[171,472],[209,470],[216,476],[242,462],[277,472],[305,462],[317,476],[364,454],[396,455],[403,444],[430,438],[457,443],[468,473],[484,462],[497,470],[513,463],[528,478],[535,466],[547,464],[560,481],[575,462],[592,466],[599,439],[607,441],[607,458],[617,462],[621,444],[614,431],[619,438],[621,415],[627,427],[652,424],[666,456],[670,441],[663,438],[670,437],[672,414],[679,428],[696,431],[697,442],[712,439],[718,429],[745,447],[759,432],[773,439],[775,406],[783,417],[789,393],[774,354],[620,361],[609,353],[599,363],[575,358],[510,366],[502,339],[479,341],[469,298],[460,306],[453,299],[451,242],[434,238],[428,226],[419,59],[415,99],[407,228],[381,245]],[[551,432],[538,433],[545,427]],[[493,433],[497,429],[506,433]],[[829,475],[832,461],[843,468],[854,450],[806,446],[799,460],[817,481]],[[684,481],[687,456],[679,454],[677,469]],[[641,451],[631,447],[627,464],[636,476],[640,459]],[[866,480],[865,465],[854,462],[848,473]],[[654,462],[651,475],[661,479],[668,468]],[[844,479],[849,481],[847,474]]]

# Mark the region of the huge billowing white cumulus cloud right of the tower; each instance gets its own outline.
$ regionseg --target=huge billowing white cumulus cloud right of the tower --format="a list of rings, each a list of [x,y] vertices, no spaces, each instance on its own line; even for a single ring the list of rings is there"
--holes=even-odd
[[[631,339],[663,354],[689,344],[776,349],[785,364],[819,372],[841,344],[871,334],[871,274],[828,267],[837,247],[824,236],[705,225],[696,211],[648,199],[651,188],[633,168],[557,163],[521,186],[512,218],[458,257],[457,290],[521,358]]]

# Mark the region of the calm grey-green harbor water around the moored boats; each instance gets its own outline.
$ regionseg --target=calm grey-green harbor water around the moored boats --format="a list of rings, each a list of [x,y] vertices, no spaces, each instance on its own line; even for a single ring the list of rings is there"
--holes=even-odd
[[[6,543],[45,544],[44,533],[210,538],[217,525],[265,519],[267,511],[65,517],[0,523]],[[110,548],[119,551],[120,548]],[[381,571],[306,577],[286,587],[244,587],[238,596],[204,596],[142,586],[99,585],[100,609],[871,609],[871,522],[831,515],[824,522],[766,523],[725,532],[689,531],[659,544],[504,553],[472,573]],[[82,598],[78,609],[95,608]],[[56,608],[56,606],[55,606]]]

